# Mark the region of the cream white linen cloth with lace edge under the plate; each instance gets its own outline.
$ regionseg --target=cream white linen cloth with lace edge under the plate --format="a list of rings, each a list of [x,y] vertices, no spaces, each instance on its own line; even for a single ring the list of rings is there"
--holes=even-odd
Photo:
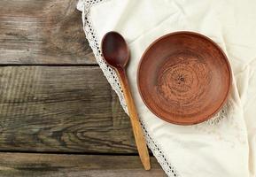
[[[148,146],[168,176],[256,176],[255,0],[80,0],[77,8],[97,62],[126,112],[118,78],[105,65],[100,42],[112,30],[127,40],[132,94]],[[217,42],[233,70],[228,103],[213,119],[195,126],[177,126],[157,118],[136,86],[144,50],[161,35],[180,30]]]

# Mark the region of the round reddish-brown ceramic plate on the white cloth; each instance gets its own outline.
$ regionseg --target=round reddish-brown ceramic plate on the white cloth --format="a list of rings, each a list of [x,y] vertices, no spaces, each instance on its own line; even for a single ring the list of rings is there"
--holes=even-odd
[[[160,119],[192,125],[210,119],[231,88],[229,60],[205,35],[164,35],[144,52],[137,84],[144,104]]]

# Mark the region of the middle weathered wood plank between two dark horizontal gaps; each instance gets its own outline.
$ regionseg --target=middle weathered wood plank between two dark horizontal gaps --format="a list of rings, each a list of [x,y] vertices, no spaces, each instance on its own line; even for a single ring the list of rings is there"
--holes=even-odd
[[[0,110],[0,150],[137,152],[98,66],[2,66]]]

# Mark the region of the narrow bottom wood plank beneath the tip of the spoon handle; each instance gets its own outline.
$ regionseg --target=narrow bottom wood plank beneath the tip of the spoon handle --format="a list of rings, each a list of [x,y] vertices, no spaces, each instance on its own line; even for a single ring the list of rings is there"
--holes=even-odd
[[[0,153],[2,177],[159,177],[166,176],[155,158],[144,171],[136,156],[49,155]]]

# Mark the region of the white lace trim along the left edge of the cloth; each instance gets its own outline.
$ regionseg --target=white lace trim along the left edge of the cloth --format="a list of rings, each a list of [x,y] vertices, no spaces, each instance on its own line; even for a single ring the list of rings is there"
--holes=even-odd
[[[93,28],[92,22],[89,18],[89,8],[94,5],[101,2],[104,2],[106,0],[87,0],[83,1],[83,11],[82,11],[82,22],[83,22],[83,30],[86,35],[86,38],[89,41],[89,46],[93,50],[93,53],[97,59],[97,63],[102,69],[107,81],[111,84],[112,89],[117,93],[117,95],[120,98],[120,104],[123,107],[124,111],[128,113],[128,108],[125,103],[125,99],[122,93],[122,90],[120,88],[120,82],[118,79],[117,74],[115,71],[105,64],[105,61],[103,60],[102,51],[99,46],[99,40],[97,38],[97,32]],[[160,150],[159,145],[153,141],[151,138],[151,135],[147,131],[147,127],[145,126],[144,122],[141,121],[141,125],[144,130],[145,139],[147,142],[148,147],[151,149],[153,155],[157,158],[159,164],[162,166],[165,173],[167,173],[170,177],[179,177],[177,171],[175,168],[167,162],[167,158],[164,155],[163,151]]]

